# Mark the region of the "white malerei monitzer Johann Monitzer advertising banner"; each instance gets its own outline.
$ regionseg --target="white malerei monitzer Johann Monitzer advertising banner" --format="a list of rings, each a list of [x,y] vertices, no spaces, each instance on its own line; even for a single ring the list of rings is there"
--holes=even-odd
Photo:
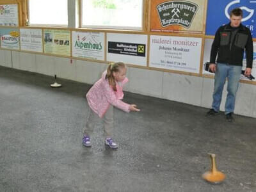
[[[150,36],[149,67],[199,73],[202,38]]]

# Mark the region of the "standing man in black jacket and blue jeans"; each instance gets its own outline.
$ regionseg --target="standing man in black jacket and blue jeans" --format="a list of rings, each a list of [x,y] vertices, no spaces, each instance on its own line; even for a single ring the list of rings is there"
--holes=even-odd
[[[250,76],[253,62],[252,34],[241,24],[243,11],[235,8],[230,12],[230,23],[221,26],[215,34],[211,49],[209,68],[215,72],[212,108],[207,115],[216,115],[220,111],[223,86],[228,79],[225,115],[228,122],[232,122],[236,92],[239,85],[243,65],[244,49],[246,52],[245,76]],[[218,54],[217,62],[216,56]]]

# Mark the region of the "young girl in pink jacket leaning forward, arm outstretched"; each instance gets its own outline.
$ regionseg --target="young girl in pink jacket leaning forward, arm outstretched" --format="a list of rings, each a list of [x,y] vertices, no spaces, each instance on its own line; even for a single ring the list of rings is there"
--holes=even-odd
[[[127,83],[126,67],[122,62],[111,63],[108,70],[103,72],[101,79],[93,84],[86,94],[90,111],[84,129],[83,145],[91,146],[90,134],[93,131],[95,120],[102,118],[106,145],[117,148],[112,139],[113,134],[113,106],[125,112],[140,111],[135,104],[127,104],[122,101],[124,93],[122,87]]]

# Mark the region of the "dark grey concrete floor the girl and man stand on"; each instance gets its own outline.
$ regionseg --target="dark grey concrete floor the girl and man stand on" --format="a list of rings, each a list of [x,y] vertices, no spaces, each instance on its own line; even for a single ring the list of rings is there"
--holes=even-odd
[[[140,113],[115,109],[118,150],[104,146],[102,124],[92,148],[81,144],[90,86],[0,67],[0,191],[256,191],[256,119],[125,93]],[[208,152],[227,175],[201,175]]]

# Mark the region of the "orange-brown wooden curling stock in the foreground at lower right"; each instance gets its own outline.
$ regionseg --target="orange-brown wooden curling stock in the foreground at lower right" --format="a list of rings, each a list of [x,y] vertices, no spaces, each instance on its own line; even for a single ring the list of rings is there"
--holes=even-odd
[[[225,179],[225,174],[219,172],[216,169],[216,163],[215,163],[215,154],[209,154],[211,157],[212,162],[212,170],[211,172],[205,172],[202,177],[207,180],[208,182],[211,182],[212,184],[218,184],[222,182]]]

